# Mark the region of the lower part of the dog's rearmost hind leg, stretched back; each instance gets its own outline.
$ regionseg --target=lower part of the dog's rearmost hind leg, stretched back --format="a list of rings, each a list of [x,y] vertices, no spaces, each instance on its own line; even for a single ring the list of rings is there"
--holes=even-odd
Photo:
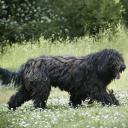
[[[25,89],[24,86],[21,86],[16,92],[16,94],[12,95],[9,102],[9,109],[15,110],[17,107],[21,106],[24,102],[30,100],[29,92]]]

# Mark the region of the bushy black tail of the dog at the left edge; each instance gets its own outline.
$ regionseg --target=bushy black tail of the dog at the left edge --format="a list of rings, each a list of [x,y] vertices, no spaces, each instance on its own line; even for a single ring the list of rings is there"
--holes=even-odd
[[[11,83],[18,85],[19,73],[0,68],[0,81],[2,82],[1,84],[5,86],[10,85]]]

